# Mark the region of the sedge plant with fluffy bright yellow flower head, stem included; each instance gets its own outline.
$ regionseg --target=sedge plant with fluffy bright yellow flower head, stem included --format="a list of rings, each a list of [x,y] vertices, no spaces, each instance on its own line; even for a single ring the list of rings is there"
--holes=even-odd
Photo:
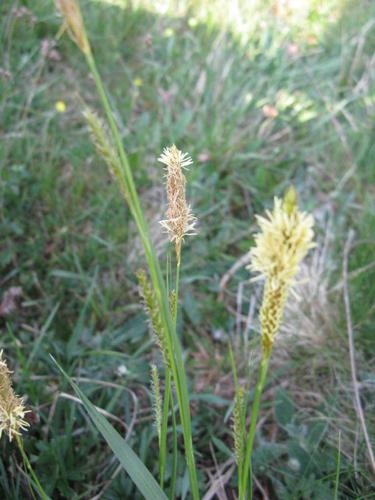
[[[313,218],[310,214],[300,212],[297,195],[290,188],[283,200],[275,198],[272,212],[266,217],[257,216],[260,232],[255,236],[255,247],[250,252],[249,270],[258,273],[256,279],[264,279],[264,291],[260,309],[262,357],[259,367],[259,378],[255,388],[255,396],[251,410],[250,427],[246,437],[246,445],[237,450],[239,477],[239,498],[252,498],[251,455],[254,445],[257,416],[260,399],[267,379],[267,371],[277,332],[280,328],[285,302],[293,286],[299,264],[314,246]],[[235,435],[245,435],[241,414],[243,396],[237,391],[235,416]],[[238,448],[238,445],[236,445]]]

